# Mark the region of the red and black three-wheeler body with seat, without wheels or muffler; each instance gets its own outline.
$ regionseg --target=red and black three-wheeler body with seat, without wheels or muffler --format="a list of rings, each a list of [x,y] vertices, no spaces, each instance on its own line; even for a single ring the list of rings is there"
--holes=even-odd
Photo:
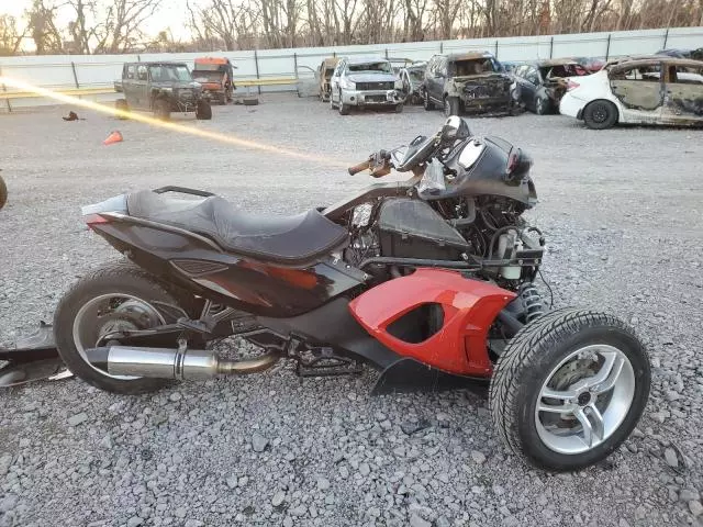
[[[432,145],[419,137],[405,158]],[[507,200],[517,204],[516,215],[532,206],[531,160],[502,139],[486,138],[460,142],[444,162],[457,177],[443,192],[422,195],[415,178],[380,183],[288,218],[241,213],[222,198],[183,188],[118,197],[86,208],[83,215],[93,231],[161,281],[252,317],[244,326],[257,329],[245,338],[255,345],[293,356],[315,348],[361,359],[383,371],[379,385],[486,380],[492,373],[489,330],[499,314],[510,318],[502,312],[516,294],[469,271],[517,265],[533,266],[534,273],[542,248],[525,238],[510,258],[471,264],[472,245],[458,225],[477,217],[472,197],[486,197],[487,206],[494,195]],[[161,195],[171,190],[203,200]],[[450,220],[442,213],[446,206],[433,206],[433,200],[464,208],[464,218]],[[353,215],[368,203],[376,204],[379,238],[372,258],[352,247]],[[513,227],[493,228],[490,253],[506,228]],[[237,333],[232,321],[219,324],[230,323],[219,336]]]

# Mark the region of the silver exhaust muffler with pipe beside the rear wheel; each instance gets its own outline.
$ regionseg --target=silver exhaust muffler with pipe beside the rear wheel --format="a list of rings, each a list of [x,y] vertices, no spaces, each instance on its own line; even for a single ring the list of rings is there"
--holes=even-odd
[[[86,350],[90,363],[111,375],[156,379],[208,379],[221,374],[264,371],[280,359],[279,351],[246,360],[222,359],[200,349],[136,348],[110,346]]]

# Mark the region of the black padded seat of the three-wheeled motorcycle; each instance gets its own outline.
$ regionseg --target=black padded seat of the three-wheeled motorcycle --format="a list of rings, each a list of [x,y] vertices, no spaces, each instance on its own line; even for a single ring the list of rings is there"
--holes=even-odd
[[[342,247],[347,231],[316,210],[294,216],[249,214],[213,195],[182,200],[150,190],[127,195],[131,216],[212,238],[225,251],[295,265]]]

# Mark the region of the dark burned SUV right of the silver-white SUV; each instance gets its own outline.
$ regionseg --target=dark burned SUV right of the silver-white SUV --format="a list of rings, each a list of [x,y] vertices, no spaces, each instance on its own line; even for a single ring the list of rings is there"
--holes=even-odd
[[[487,52],[435,55],[422,92],[425,110],[440,105],[446,115],[514,114],[521,108],[517,83]]]

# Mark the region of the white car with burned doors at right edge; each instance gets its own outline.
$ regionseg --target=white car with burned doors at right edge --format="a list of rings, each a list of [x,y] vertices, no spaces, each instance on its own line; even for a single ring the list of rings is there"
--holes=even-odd
[[[589,128],[623,124],[703,126],[703,61],[671,57],[612,61],[570,77],[559,112]]]

